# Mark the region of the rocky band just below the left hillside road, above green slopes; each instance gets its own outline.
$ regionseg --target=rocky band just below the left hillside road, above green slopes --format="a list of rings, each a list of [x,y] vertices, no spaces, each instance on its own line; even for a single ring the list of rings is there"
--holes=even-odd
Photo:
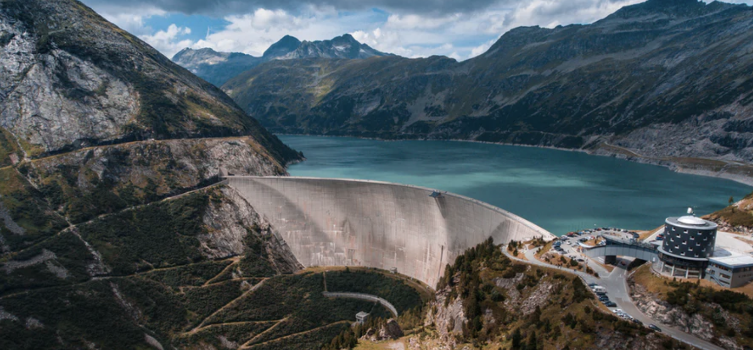
[[[157,193],[191,189],[229,174],[286,174],[285,164],[258,148],[252,137],[132,142],[72,151],[27,164],[30,177],[42,183],[62,177],[61,169],[69,169],[67,176],[80,189],[92,189],[99,181],[136,187],[152,181],[159,185]]]

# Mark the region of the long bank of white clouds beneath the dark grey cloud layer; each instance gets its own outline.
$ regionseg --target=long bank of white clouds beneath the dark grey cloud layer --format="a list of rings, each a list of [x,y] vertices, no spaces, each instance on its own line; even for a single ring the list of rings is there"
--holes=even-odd
[[[282,9],[251,8],[248,14],[224,17],[229,23],[200,40],[188,40],[188,25],[175,23],[154,32],[145,26],[150,16],[166,13],[156,8],[140,8],[103,14],[123,29],[172,56],[183,47],[211,47],[218,51],[264,53],[284,35],[300,40],[323,40],[349,32],[365,44],[407,57],[441,54],[468,59],[485,52],[503,33],[517,26],[552,28],[570,23],[592,23],[619,8],[643,0],[498,0],[483,11],[425,14],[392,11],[341,13],[333,7],[304,5],[295,12]],[[748,1],[750,3],[750,1]],[[111,11],[113,12],[113,11]],[[200,29],[197,29],[200,30]],[[203,30],[203,29],[201,29]]]

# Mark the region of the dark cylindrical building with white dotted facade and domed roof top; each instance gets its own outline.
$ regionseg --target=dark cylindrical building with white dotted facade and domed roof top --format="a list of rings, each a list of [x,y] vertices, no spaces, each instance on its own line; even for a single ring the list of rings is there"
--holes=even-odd
[[[666,218],[654,270],[662,275],[703,278],[714,255],[717,224],[694,216]]]

